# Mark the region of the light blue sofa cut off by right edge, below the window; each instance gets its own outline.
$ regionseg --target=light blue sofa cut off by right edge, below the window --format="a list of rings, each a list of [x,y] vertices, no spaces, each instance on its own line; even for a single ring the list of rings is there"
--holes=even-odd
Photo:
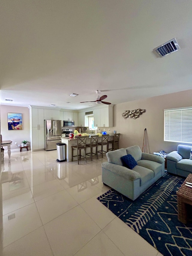
[[[187,177],[192,173],[192,160],[190,160],[191,146],[178,145],[177,151],[166,156],[167,172]]]

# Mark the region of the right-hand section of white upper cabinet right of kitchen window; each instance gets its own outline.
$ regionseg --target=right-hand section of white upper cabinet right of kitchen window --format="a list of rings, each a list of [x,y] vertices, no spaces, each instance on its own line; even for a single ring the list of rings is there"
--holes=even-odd
[[[113,127],[113,106],[100,109],[100,124],[100,127]]]

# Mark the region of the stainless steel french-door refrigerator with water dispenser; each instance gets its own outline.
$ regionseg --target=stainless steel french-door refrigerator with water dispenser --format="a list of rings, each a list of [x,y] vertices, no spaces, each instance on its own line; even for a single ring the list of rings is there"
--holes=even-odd
[[[61,142],[61,120],[44,120],[45,150],[57,149],[56,143]]]

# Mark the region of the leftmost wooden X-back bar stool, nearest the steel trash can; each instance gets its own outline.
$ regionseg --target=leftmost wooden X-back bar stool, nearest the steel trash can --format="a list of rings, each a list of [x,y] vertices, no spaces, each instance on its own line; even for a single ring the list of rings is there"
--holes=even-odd
[[[76,158],[78,160],[79,164],[79,159],[85,158],[85,163],[86,161],[86,140],[87,136],[78,136],[77,137],[77,145],[71,146],[72,147],[72,162],[73,158]],[[73,155],[73,149],[77,150],[77,155]],[[81,155],[81,150],[84,150],[84,156]]]

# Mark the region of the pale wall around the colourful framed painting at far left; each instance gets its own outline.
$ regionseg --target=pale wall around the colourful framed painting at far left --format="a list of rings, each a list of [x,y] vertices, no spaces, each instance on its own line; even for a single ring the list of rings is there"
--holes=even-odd
[[[2,140],[12,140],[11,151],[20,150],[16,147],[15,142],[21,144],[22,140],[30,141],[29,108],[1,105],[0,112]],[[22,130],[8,130],[7,113],[22,113]],[[6,152],[7,147],[4,149]]]

